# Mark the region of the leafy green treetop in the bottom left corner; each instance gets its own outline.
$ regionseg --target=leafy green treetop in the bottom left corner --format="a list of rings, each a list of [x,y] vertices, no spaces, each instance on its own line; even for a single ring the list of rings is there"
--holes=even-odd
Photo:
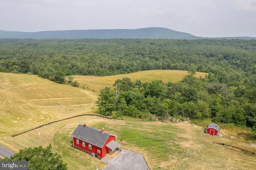
[[[28,161],[29,170],[67,170],[67,164],[63,163],[61,156],[52,153],[52,146],[42,146],[19,150],[18,153],[2,159],[2,161]]]

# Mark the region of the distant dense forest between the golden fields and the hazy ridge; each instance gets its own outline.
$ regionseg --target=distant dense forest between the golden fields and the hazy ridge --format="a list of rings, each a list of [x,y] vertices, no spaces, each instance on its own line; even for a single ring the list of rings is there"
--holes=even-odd
[[[0,39],[0,71],[46,78],[193,67],[228,83],[255,75],[255,56],[256,40]]]

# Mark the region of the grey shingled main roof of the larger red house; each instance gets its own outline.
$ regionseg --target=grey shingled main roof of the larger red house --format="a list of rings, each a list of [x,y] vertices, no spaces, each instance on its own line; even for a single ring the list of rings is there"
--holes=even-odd
[[[101,133],[101,130],[92,127],[84,127],[83,125],[78,125],[71,136],[88,142],[100,148],[103,148],[109,136],[116,136],[107,132]]]

